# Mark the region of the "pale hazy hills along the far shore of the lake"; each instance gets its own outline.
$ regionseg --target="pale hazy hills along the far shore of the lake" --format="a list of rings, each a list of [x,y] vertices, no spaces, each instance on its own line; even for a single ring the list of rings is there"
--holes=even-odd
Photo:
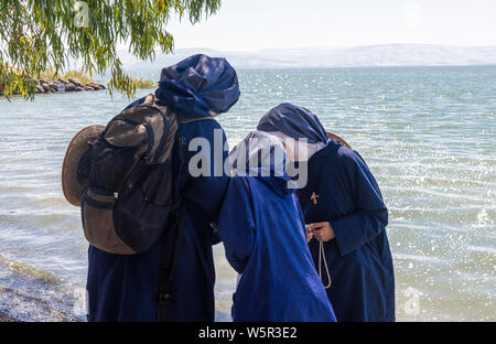
[[[127,71],[138,75],[150,75],[196,53],[226,57],[236,68],[496,65],[496,46],[422,44],[274,49],[257,52],[177,49],[174,54],[158,54],[153,63],[137,61],[127,52],[120,52],[120,56]]]

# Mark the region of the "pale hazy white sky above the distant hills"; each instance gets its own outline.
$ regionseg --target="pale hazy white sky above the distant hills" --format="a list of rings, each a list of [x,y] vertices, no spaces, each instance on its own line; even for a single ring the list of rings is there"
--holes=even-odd
[[[171,22],[175,47],[254,51],[388,43],[496,45],[496,0],[223,0]]]

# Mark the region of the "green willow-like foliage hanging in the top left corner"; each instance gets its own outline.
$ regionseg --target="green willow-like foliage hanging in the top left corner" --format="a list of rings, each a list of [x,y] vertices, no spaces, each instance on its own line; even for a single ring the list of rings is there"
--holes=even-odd
[[[136,83],[122,69],[117,45],[138,58],[153,60],[155,50],[174,45],[165,30],[174,14],[195,23],[215,13],[220,0],[0,0],[0,85],[32,98],[44,71],[62,73],[69,57],[83,72],[110,71],[108,90],[134,95]]]

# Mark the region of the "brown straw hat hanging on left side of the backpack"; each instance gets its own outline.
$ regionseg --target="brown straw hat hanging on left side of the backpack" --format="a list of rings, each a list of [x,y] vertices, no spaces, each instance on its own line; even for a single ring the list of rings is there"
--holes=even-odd
[[[86,184],[84,170],[89,169],[89,143],[98,139],[105,126],[86,127],[71,141],[62,164],[62,191],[68,203],[80,206],[79,197]],[[79,175],[78,175],[79,174]]]

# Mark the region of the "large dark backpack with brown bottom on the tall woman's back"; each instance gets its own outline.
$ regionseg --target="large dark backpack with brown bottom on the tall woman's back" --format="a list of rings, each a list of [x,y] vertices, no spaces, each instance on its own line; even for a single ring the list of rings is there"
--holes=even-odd
[[[80,204],[93,246],[116,255],[141,254],[177,219],[179,133],[177,116],[151,94],[114,117],[90,143]]]

